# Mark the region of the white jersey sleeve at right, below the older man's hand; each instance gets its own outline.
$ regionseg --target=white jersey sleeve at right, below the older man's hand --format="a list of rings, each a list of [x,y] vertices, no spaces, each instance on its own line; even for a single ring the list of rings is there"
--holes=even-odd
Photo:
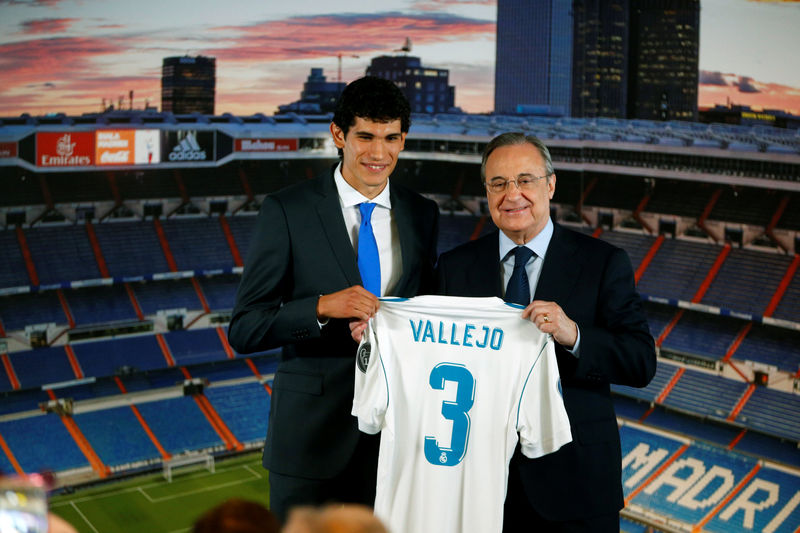
[[[531,459],[552,453],[572,441],[556,352],[549,337],[542,344],[522,390],[517,431],[522,453]]]

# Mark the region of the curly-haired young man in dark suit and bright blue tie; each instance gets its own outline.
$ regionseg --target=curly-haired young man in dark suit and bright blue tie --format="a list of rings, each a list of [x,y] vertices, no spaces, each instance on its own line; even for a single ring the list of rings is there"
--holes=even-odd
[[[350,414],[348,322],[435,283],[438,208],[389,180],[409,125],[394,83],[352,82],[330,127],[339,164],[261,206],[228,338],[240,353],[283,347],[263,457],[281,521],[298,504],[374,504],[379,438]]]

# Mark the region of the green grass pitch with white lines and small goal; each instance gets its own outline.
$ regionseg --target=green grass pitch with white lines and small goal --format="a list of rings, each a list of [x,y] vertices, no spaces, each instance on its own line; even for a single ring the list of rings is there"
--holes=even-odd
[[[173,471],[167,483],[159,471],[116,483],[55,495],[50,510],[80,533],[186,533],[206,510],[233,497],[269,499],[267,472],[258,453]]]

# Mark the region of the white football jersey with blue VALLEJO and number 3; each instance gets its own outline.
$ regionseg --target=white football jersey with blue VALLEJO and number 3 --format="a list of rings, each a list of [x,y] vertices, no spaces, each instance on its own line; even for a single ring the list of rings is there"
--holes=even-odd
[[[384,299],[358,350],[358,426],[381,432],[375,514],[402,533],[502,530],[508,463],[572,440],[553,341],[499,298]]]

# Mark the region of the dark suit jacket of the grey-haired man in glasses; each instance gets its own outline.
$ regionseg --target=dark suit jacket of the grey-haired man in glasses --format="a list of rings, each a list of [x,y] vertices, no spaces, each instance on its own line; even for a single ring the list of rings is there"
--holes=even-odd
[[[439,293],[501,296],[498,232],[442,254]],[[556,345],[573,442],[539,459],[515,453],[530,504],[549,520],[612,513],[623,506],[619,430],[610,383],[643,387],[656,370],[653,338],[627,254],[555,225],[536,300],[554,301],[580,328],[580,358]]]

